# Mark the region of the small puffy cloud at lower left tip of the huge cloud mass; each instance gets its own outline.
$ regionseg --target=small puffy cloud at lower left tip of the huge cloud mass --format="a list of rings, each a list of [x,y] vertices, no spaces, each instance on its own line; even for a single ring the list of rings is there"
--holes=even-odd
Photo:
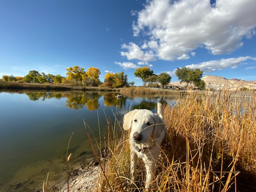
[[[122,49],[127,49],[128,52],[120,52],[122,56],[126,56],[128,60],[138,59],[141,61],[155,61],[154,53],[149,50],[143,52],[138,45],[130,42],[129,45],[122,44]]]

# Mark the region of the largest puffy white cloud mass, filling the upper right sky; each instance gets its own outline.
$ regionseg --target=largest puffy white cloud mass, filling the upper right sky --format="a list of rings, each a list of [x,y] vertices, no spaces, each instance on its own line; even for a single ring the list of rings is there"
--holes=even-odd
[[[151,0],[132,23],[134,36],[143,35],[142,45],[123,44],[128,60],[183,60],[193,50],[228,54],[243,46],[243,38],[256,34],[255,0]],[[133,15],[134,12],[133,12]]]

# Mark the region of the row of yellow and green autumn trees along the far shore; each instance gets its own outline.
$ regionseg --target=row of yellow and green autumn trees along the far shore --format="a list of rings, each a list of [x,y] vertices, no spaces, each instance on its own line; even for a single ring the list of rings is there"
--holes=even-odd
[[[104,86],[109,88],[122,88],[134,86],[135,82],[128,82],[128,77],[123,71],[119,73],[108,72],[104,76],[104,82],[99,80],[100,70],[98,68],[90,67],[87,71],[79,66],[73,66],[66,69],[67,77],[60,76],[60,74],[52,75],[39,73],[36,70],[29,71],[24,77],[14,77],[13,75],[3,75],[2,78],[6,82],[26,82],[26,83],[50,83],[50,84],[63,84],[71,86]],[[175,71],[176,76],[180,82],[185,82],[188,87],[194,83],[194,86],[205,88],[205,83],[202,78],[203,72],[200,69],[191,69],[189,67],[177,68]],[[158,87],[159,84],[162,88],[170,83],[171,76],[163,72],[159,75],[154,74],[154,71],[144,66],[137,68],[134,75],[142,79],[144,87]]]

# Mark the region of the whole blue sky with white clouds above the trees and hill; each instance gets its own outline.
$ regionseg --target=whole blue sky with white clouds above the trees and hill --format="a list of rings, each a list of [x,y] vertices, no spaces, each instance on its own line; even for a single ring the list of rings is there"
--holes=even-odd
[[[1,0],[0,78],[200,68],[256,80],[256,0]],[[203,75],[203,76],[204,76]]]

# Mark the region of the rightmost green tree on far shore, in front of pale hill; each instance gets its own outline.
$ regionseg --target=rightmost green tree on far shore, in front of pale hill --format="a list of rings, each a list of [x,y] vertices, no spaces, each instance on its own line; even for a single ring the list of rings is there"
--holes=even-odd
[[[181,83],[185,82],[189,88],[192,83],[196,84],[200,82],[203,71],[198,68],[194,70],[189,67],[182,67],[177,68],[175,74],[178,77],[178,80],[180,80]]]

